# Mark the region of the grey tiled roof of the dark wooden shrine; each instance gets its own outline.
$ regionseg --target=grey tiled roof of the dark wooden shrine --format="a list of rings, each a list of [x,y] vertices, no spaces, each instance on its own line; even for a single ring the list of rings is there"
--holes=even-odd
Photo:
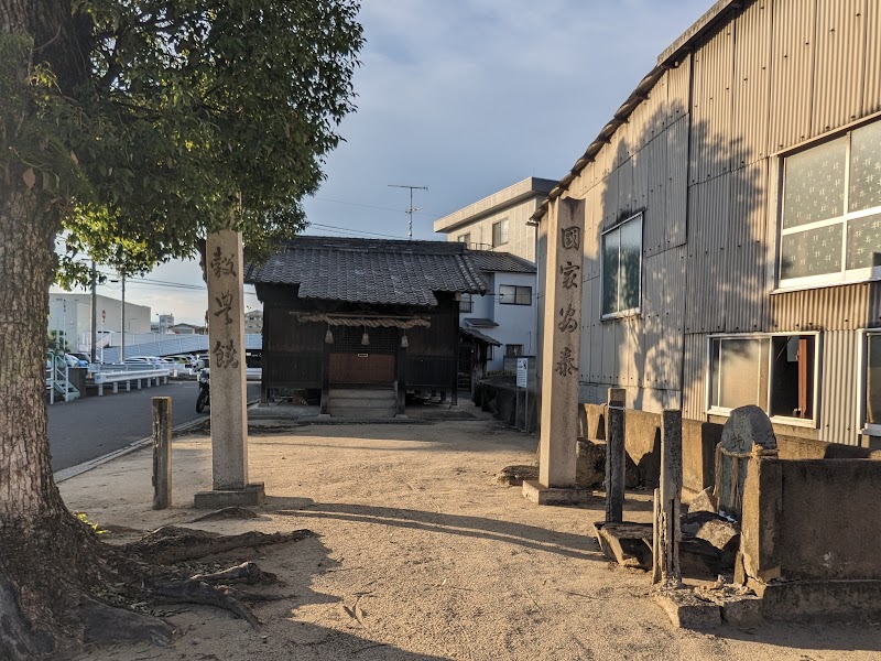
[[[301,299],[437,305],[434,292],[485,294],[487,286],[463,243],[297,237],[261,266],[252,284],[296,284]]]

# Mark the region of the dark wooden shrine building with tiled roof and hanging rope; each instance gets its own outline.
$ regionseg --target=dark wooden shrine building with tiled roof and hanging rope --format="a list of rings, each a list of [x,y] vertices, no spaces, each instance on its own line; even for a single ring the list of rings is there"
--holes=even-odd
[[[464,243],[298,237],[244,281],[264,306],[262,401],[320,390],[322,413],[340,415],[383,397],[403,414],[409,390],[456,403],[459,300],[487,292]]]

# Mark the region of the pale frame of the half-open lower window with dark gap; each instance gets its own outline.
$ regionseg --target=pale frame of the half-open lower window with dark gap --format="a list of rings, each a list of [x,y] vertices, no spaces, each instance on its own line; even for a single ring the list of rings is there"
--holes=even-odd
[[[769,353],[769,360],[768,360],[768,373],[765,375],[768,379],[768,390],[764,393],[766,397],[765,407],[763,409],[765,415],[771,420],[773,424],[787,424],[790,426],[802,426],[808,429],[818,429],[819,427],[819,391],[820,391],[820,361],[823,356],[823,333],[819,330],[804,330],[804,332],[779,332],[779,333],[713,333],[706,336],[707,338],[707,346],[706,346],[706,356],[705,356],[705,371],[706,379],[704,381],[704,411],[707,415],[719,415],[721,418],[728,418],[731,414],[733,409],[727,409],[725,407],[716,407],[710,401],[710,383],[713,380],[713,343],[715,340],[725,340],[725,339],[763,339],[766,340],[773,347],[773,339],[775,337],[805,337],[812,336],[814,337],[814,370],[813,370],[813,379],[814,379],[814,388],[813,388],[813,397],[811,401],[811,411],[813,416],[812,418],[792,418],[790,415],[771,415],[771,398],[772,398],[772,390],[773,390],[773,367],[774,361],[772,359],[771,353]],[[720,357],[721,364],[721,357]],[[760,366],[761,369],[761,366]],[[757,391],[758,392],[758,391]]]

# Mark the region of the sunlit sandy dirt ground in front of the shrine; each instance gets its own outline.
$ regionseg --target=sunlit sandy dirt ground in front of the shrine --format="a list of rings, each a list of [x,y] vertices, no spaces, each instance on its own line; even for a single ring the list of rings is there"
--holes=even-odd
[[[715,635],[673,629],[649,576],[610,564],[589,535],[588,508],[537,507],[501,487],[503,466],[529,464],[536,438],[460,407],[471,420],[308,425],[252,434],[260,517],[193,524],[227,533],[307,528],[318,537],[226,554],[255,560],[285,598],[258,604],[252,630],[207,607],[157,611],[181,632],[171,648],[128,644],[84,659],[793,659],[881,658],[878,622],[764,624]],[[468,413],[466,413],[468,414]],[[152,530],[204,513],[210,441],[174,442],[174,507],[153,511],[152,456],[139,451],[61,485],[99,524]],[[645,499],[629,508],[645,514]],[[631,514],[631,516],[635,516]],[[108,537],[108,541],[112,535]]]

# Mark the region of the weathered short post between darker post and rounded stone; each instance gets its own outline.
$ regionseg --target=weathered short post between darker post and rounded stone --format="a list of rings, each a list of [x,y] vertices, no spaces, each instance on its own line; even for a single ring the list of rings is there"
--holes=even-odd
[[[655,505],[652,579],[663,587],[682,584],[679,494],[682,492],[682,411],[664,411],[661,421],[661,488]]]

